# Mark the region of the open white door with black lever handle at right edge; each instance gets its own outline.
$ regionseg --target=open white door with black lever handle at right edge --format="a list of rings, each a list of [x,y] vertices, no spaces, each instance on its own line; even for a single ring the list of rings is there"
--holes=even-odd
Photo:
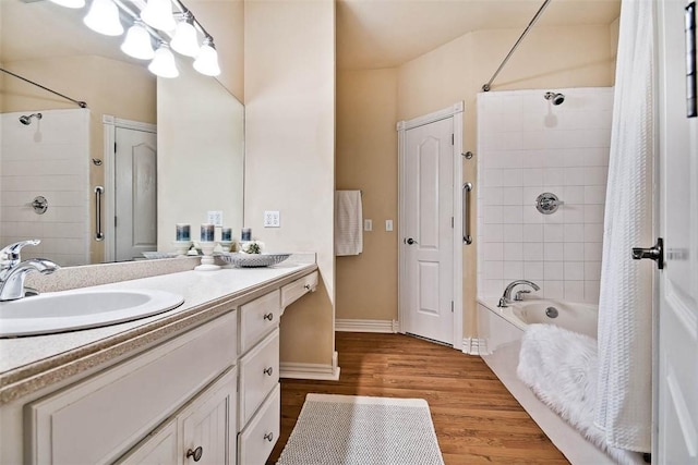
[[[698,464],[698,118],[686,117],[686,0],[659,3],[660,273],[652,462]],[[695,42],[694,42],[695,44]],[[694,52],[695,53],[695,52]]]

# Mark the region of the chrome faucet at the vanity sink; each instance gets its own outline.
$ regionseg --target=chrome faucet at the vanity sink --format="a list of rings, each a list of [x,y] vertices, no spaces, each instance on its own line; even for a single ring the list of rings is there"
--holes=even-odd
[[[25,245],[37,245],[41,241],[33,238],[10,244],[0,250],[0,302],[24,297],[24,279],[32,271],[49,274],[60,267],[45,258],[22,261],[20,250]]]

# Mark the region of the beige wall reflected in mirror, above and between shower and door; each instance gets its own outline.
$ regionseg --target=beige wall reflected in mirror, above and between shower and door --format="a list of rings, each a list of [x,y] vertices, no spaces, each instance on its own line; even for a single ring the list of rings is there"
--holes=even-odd
[[[89,158],[104,158],[101,117],[156,122],[155,76],[137,64],[94,56],[5,62],[4,66],[75,100],[91,110]],[[124,85],[128,83],[128,85]],[[75,103],[5,76],[0,88],[2,112],[77,108]],[[91,185],[104,185],[104,166],[89,163]],[[94,206],[89,209],[94,215]],[[94,219],[91,221],[94,224]],[[92,262],[104,260],[104,243],[92,241]]]

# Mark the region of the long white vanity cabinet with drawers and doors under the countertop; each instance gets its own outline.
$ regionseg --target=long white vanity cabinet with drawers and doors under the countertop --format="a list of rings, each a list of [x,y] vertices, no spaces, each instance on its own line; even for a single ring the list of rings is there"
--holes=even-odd
[[[282,309],[317,278],[268,280],[77,346],[1,404],[0,462],[264,464],[280,432]]]

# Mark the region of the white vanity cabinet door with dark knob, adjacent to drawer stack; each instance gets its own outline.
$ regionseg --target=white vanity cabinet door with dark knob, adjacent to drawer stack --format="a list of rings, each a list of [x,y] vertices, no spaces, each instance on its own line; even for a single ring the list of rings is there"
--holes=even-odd
[[[236,370],[216,382],[178,416],[184,464],[234,464]]]

